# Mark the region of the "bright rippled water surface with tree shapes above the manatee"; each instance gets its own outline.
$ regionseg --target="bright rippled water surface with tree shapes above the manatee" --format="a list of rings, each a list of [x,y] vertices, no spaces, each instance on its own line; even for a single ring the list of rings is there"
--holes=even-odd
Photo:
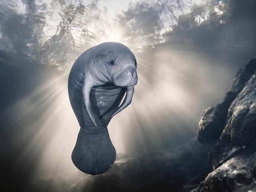
[[[193,6],[202,8],[195,18],[198,24],[209,19],[210,13],[223,13],[219,10],[221,6],[209,7],[210,3],[204,0],[196,3],[124,1],[122,4],[126,6],[124,11],[121,3],[114,0],[3,0],[0,3],[2,49],[69,71],[84,50],[102,42],[117,41],[131,50],[153,48],[165,42],[166,34],[178,24],[179,16],[189,14]]]

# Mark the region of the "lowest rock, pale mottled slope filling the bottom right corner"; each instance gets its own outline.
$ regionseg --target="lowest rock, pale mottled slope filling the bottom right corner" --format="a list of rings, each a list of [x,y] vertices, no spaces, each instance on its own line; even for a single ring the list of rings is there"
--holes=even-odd
[[[256,187],[256,145],[240,150],[191,192],[248,192]]]

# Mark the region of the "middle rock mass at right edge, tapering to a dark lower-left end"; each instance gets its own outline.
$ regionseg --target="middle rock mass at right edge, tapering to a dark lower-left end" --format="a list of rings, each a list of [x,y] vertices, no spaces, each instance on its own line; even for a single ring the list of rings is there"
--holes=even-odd
[[[227,159],[234,151],[256,141],[256,72],[235,98],[228,110],[226,126],[220,140],[210,151],[214,167]]]

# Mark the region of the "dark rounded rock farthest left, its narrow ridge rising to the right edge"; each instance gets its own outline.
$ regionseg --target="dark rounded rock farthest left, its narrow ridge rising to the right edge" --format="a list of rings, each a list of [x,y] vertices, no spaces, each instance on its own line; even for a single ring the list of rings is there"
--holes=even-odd
[[[235,76],[235,80],[228,93],[226,93],[223,101],[216,107],[206,109],[199,122],[198,141],[202,143],[211,143],[220,138],[222,131],[226,125],[228,110],[231,103],[237,95],[243,90],[246,82],[256,71],[256,60],[251,60],[243,69]],[[242,111],[241,111],[242,112]]]

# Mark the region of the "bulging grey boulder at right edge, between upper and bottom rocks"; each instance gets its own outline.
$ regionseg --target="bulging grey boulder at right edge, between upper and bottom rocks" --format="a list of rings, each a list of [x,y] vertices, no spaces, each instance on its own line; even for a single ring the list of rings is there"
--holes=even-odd
[[[223,134],[230,135],[232,144],[239,147],[256,139],[256,73],[231,104]]]

